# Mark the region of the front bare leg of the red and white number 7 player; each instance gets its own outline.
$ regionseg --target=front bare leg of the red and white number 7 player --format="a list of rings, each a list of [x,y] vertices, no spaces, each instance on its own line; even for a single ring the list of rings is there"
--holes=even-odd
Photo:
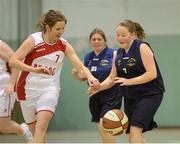
[[[37,113],[37,122],[34,133],[35,143],[45,143],[46,132],[53,113],[50,111],[40,111]]]

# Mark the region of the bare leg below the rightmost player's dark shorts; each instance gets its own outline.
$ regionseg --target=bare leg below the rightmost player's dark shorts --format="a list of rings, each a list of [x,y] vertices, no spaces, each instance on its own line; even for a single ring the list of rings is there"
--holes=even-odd
[[[145,143],[142,128],[131,126],[129,133],[129,143]]]

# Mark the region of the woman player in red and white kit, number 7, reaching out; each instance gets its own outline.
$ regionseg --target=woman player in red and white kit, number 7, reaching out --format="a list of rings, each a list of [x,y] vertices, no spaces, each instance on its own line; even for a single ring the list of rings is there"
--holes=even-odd
[[[66,23],[67,19],[60,11],[49,10],[40,17],[39,32],[31,34],[9,61],[12,67],[22,70],[17,95],[35,143],[45,142],[47,128],[58,103],[59,77],[65,56],[91,86],[99,86],[98,80],[83,66],[72,46],[61,37]]]

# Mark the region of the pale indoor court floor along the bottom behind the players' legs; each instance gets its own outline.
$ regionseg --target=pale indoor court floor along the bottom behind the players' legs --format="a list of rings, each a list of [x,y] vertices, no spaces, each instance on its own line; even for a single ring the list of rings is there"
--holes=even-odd
[[[158,128],[145,133],[146,143],[179,143],[180,128]],[[100,143],[96,131],[50,131],[47,143]],[[127,135],[117,136],[118,143],[127,143]],[[0,143],[23,143],[17,135],[0,134]]]

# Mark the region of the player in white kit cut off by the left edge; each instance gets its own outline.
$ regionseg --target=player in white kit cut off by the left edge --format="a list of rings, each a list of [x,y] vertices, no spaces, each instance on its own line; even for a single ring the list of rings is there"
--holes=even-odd
[[[0,40],[0,132],[16,133],[24,137],[26,142],[32,142],[32,135],[26,124],[19,125],[11,120],[11,112],[15,102],[14,86],[16,84],[18,71],[10,70],[8,60],[13,54],[13,50]]]

